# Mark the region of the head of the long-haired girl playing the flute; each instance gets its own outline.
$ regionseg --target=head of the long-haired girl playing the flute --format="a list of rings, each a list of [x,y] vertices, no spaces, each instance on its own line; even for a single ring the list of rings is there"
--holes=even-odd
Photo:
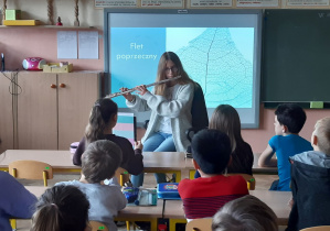
[[[158,63],[157,81],[170,79],[177,76],[181,78],[177,79],[175,82],[184,85],[191,81],[188,74],[183,69],[182,63],[179,56],[173,52],[166,52],[161,55]],[[156,85],[155,94],[163,96],[166,87],[170,84]]]

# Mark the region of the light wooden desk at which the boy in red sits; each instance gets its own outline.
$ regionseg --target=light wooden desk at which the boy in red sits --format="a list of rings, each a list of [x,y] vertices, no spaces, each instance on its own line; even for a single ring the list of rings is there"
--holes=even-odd
[[[273,209],[277,216],[278,226],[287,226],[291,211],[291,208],[288,206],[291,191],[251,190],[249,194],[259,198]],[[174,230],[177,222],[187,222],[182,200],[167,200],[163,217],[170,219],[170,231]]]

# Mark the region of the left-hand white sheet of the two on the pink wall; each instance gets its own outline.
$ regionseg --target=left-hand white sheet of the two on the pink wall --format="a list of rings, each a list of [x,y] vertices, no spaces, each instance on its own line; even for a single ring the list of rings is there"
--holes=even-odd
[[[57,58],[77,58],[77,32],[57,31]]]

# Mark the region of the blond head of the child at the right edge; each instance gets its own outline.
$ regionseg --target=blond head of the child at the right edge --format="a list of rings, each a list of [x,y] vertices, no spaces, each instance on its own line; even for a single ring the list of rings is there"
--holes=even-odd
[[[315,150],[330,155],[330,117],[318,120],[311,135]]]

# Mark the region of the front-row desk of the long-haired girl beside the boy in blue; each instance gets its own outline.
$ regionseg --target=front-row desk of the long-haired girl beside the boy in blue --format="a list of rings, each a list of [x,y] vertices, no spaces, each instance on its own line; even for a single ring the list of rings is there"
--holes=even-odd
[[[260,156],[260,153],[254,154],[254,163],[252,166],[252,173],[253,174],[264,174],[264,175],[277,175],[277,167],[260,167],[258,165],[258,158]],[[194,178],[195,169],[192,164],[192,158],[185,158],[185,168],[189,169],[189,178]]]

